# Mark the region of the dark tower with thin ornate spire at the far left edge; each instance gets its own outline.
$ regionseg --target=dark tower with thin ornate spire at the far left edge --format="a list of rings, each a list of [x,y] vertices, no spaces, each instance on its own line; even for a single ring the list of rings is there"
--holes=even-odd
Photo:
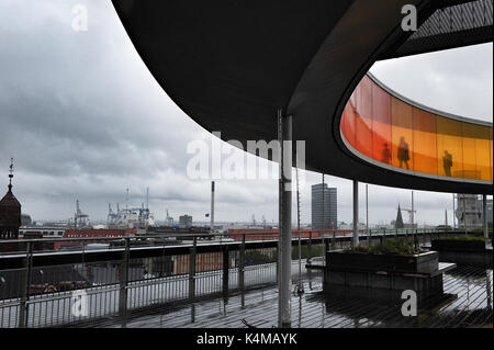
[[[0,201],[0,239],[18,239],[21,227],[21,203],[12,193],[13,158],[9,170],[9,185]]]

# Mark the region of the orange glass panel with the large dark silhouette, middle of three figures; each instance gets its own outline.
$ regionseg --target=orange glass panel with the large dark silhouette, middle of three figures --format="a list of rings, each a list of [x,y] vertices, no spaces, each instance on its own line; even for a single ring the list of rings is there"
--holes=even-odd
[[[391,98],[393,166],[414,170],[412,106]]]

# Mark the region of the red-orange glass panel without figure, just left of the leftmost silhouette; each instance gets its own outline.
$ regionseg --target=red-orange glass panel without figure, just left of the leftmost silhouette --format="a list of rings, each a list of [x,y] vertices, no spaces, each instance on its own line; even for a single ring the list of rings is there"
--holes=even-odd
[[[355,116],[355,148],[372,157],[372,86],[366,76],[357,87]]]

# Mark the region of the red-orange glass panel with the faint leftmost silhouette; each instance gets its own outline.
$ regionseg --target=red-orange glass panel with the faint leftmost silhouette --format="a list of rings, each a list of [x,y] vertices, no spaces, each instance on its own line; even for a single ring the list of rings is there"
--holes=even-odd
[[[372,86],[372,158],[388,165],[391,154],[391,95]]]

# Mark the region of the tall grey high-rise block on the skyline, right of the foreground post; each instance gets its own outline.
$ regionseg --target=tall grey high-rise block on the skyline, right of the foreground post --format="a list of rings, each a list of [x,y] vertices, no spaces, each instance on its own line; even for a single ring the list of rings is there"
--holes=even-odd
[[[326,183],[324,184],[324,187],[323,183],[314,184],[312,187],[312,228],[337,228],[337,189],[328,188]]]

